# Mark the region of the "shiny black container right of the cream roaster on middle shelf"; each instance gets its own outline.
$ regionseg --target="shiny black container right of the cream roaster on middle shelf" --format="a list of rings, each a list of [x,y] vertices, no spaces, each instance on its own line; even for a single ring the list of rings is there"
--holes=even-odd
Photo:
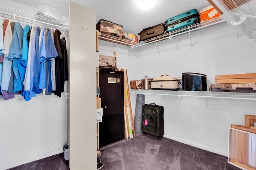
[[[182,73],[182,90],[207,91],[206,79],[205,74],[184,72]]]

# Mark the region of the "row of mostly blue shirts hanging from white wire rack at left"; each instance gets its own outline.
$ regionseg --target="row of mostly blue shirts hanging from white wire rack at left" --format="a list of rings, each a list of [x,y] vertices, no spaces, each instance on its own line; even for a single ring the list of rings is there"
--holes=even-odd
[[[63,22],[63,26],[59,26],[47,23],[47,20],[37,21],[30,18],[37,18],[34,14],[26,18],[15,14],[16,12],[19,13],[15,9],[8,8],[8,10],[10,10],[10,14],[8,14],[8,11],[0,12],[0,35],[3,31],[3,37],[0,36],[0,94],[3,94],[4,100],[14,98],[16,94],[21,94],[25,101],[31,100],[32,97],[42,93],[43,90],[45,90],[44,95],[52,94],[52,92],[55,94],[56,75],[58,75],[55,68],[58,64],[56,64],[55,58],[58,57],[58,52],[54,44],[55,30],[47,27],[52,25],[67,31],[66,23]],[[4,18],[6,16],[10,16],[10,19],[14,21]],[[24,23],[30,23],[31,21],[32,26],[28,24],[21,25],[23,21]],[[34,25],[37,23],[48,26],[42,28]],[[6,37],[5,41],[4,37]],[[62,55],[60,35],[59,44]],[[61,87],[58,87],[58,89],[61,90],[57,90],[59,91],[57,96],[61,96],[61,92],[64,92],[63,67],[62,62],[59,66],[62,70],[60,73],[62,74],[62,81],[61,84],[58,84]],[[58,70],[60,70],[59,68]]]

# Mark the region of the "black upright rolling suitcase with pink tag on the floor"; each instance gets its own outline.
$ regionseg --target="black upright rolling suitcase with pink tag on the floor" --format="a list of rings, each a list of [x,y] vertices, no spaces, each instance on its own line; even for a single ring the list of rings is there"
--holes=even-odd
[[[160,140],[164,135],[164,106],[154,103],[142,106],[142,132],[155,135]]]

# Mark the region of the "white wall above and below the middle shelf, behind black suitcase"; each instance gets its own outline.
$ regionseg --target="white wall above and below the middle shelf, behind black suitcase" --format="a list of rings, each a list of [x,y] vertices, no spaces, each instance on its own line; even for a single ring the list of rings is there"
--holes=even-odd
[[[206,74],[208,88],[215,75],[256,72],[256,42],[242,33],[236,40],[236,29],[222,23],[174,37],[155,44],[135,48],[135,57],[127,46],[116,45],[118,68],[128,70],[128,79],[168,74],[182,77],[182,72]],[[99,53],[113,56],[113,43],[100,40]],[[136,95],[131,95],[133,114]],[[146,95],[145,103],[164,106],[164,137],[228,155],[228,127],[244,125],[244,114],[256,115],[255,100],[196,98]]]

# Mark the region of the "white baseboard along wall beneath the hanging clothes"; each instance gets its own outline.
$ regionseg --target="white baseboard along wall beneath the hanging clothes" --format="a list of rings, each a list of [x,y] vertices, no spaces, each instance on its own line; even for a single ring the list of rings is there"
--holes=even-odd
[[[27,158],[27,159],[24,159],[24,160],[20,160],[20,161],[17,161],[17,162],[13,162],[13,163],[10,163],[10,164],[0,166],[0,170],[6,170],[6,169],[9,169],[9,168],[19,166],[19,165],[27,164],[29,162],[33,162],[35,160],[39,160],[39,159],[42,159],[42,158],[47,158],[49,156],[59,154],[59,153],[62,153],[62,152],[63,152],[63,149],[58,149],[58,150],[54,150],[52,152],[48,152],[48,153],[45,153],[45,154],[40,154],[38,156],[33,156],[31,158]]]

